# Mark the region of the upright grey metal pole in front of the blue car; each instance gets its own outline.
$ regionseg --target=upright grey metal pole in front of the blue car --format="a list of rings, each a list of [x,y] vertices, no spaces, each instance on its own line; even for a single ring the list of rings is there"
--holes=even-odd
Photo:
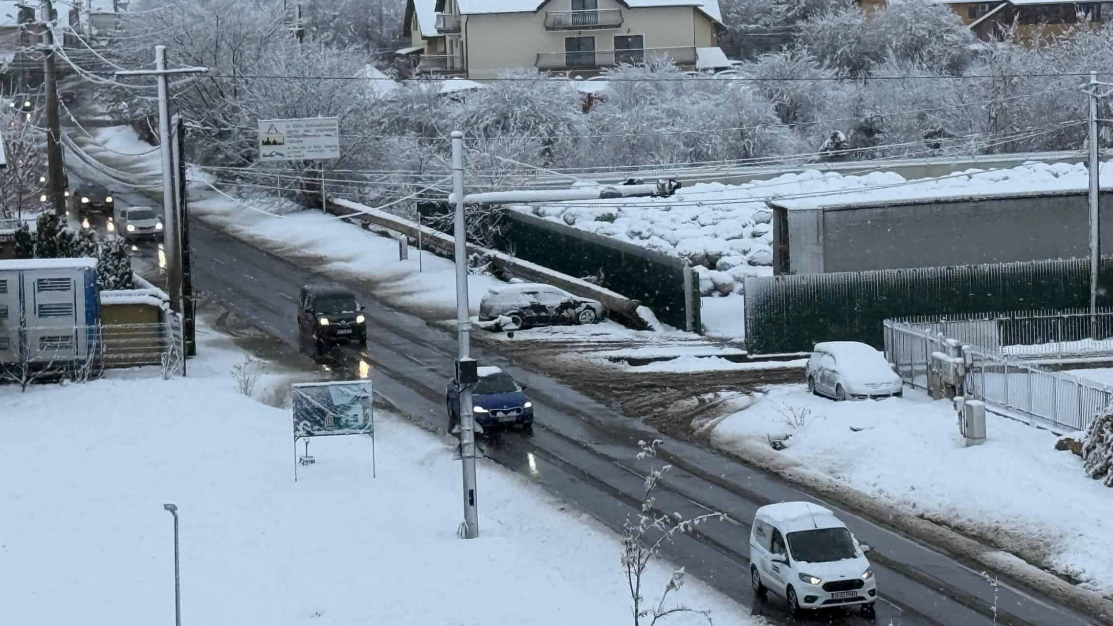
[[[467,234],[464,229],[464,134],[452,131],[452,190],[456,199],[456,218],[453,228],[454,260],[456,263],[456,342],[459,360],[470,359],[469,332],[471,321],[467,307]],[[472,390],[460,391],[460,456],[464,466],[464,529],[465,539],[480,536],[479,509],[475,506],[475,415],[472,413]]]

